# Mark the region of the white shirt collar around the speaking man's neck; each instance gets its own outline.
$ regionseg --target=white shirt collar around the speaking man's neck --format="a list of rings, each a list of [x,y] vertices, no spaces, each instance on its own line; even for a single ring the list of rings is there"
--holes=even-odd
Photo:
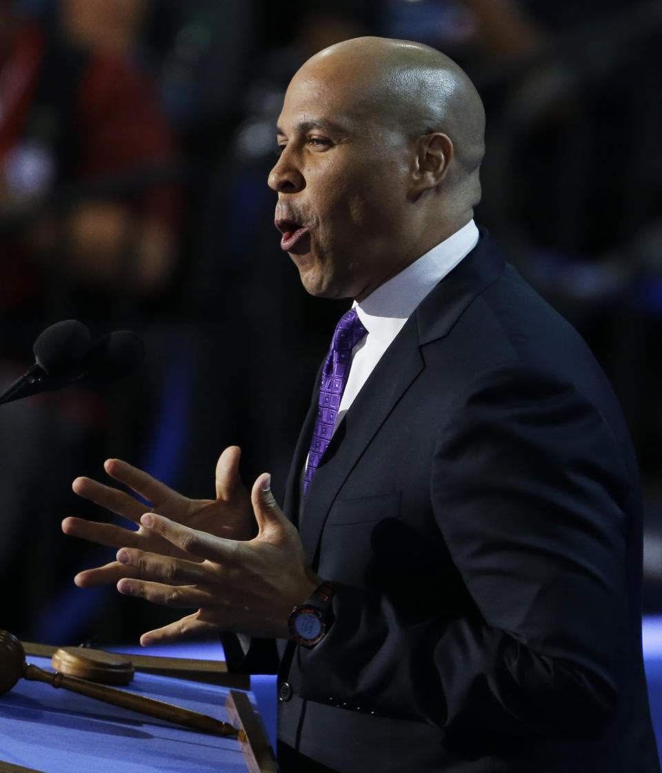
[[[479,233],[470,220],[373,291],[354,307],[362,325],[369,333],[389,335],[391,329],[402,327],[416,306],[439,282],[474,249]]]

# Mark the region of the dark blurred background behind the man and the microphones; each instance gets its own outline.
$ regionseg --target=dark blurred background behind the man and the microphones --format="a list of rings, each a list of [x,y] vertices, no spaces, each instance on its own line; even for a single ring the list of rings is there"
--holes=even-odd
[[[660,2],[0,0],[0,389],[60,319],[148,350],[123,382],[0,408],[0,627],[117,643],[173,617],[73,586],[114,556],[59,529],[109,517],[70,489],[109,456],[206,497],[239,444],[244,480],[270,470],[282,492],[347,303],[309,298],[280,250],[274,127],[297,67],[362,34],[429,43],[477,83],[477,220],[616,388],[662,611]]]

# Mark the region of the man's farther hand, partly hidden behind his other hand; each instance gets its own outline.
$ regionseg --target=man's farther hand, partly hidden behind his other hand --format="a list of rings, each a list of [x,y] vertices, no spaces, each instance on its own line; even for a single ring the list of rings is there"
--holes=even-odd
[[[155,510],[175,523],[229,540],[250,540],[256,534],[257,524],[249,492],[239,478],[240,455],[241,451],[236,446],[230,446],[222,452],[216,465],[216,499],[188,499],[147,472],[119,459],[109,459],[104,468],[111,478],[147,499]],[[76,478],[73,491],[137,523],[138,530],[80,518],[66,518],[62,523],[64,533],[110,547],[135,547],[170,557],[184,555],[173,543],[140,525],[140,518],[147,507],[133,496],[90,478]],[[190,556],[188,559],[202,560]],[[103,567],[80,572],[74,581],[80,587],[89,587],[131,576],[131,567],[113,561]]]

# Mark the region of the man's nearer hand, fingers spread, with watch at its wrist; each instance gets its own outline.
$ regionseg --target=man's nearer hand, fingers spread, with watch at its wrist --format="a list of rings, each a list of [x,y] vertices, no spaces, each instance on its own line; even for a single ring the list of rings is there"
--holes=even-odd
[[[155,644],[209,630],[285,638],[287,618],[321,583],[307,567],[297,530],[283,516],[269,489],[269,475],[253,485],[258,533],[245,542],[213,536],[155,512],[141,528],[168,540],[176,553],[148,553],[123,547],[117,560],[131,568],[117,590],[173,608],[197,608],[192,615],[141,636]]]

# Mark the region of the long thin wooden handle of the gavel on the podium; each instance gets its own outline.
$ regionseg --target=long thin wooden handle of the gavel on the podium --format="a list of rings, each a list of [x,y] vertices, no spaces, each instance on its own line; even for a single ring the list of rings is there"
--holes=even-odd
[[[127,693],[126,690],[117,690],[115,687],[87,682],[85,679],[77,679],[76,676],[65,676],[59,673],[59,671],[49,673],[32,664],[28,664],[25,667],[23,677],[34,682],[45,682],[46,684],[53,685],[53,687],[63,687],[65,690],[70,690],[73,693],[87,695],[96,700],[103,700],[104,703],[112,703],[113,706],[147,714],[148,717],[156,717],[160,720],[182,724],[195,730],[202,730],[205,733],[236,735],[238,732],[231,724],[215,720],[213,717],[208,717],[206,714],[201,714],[197,711],[182,709],[182,707],[173,706],[171,703],[154,700],[154,698],[147,698],[135,693]]]

